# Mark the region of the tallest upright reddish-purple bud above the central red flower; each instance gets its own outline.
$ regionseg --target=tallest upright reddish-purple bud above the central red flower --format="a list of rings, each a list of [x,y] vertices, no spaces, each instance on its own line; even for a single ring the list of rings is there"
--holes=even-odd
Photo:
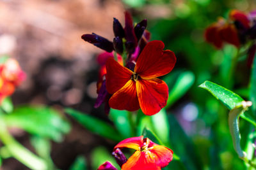
[[[133,53],[136,46],[138,45],[138,41],[133,29],[133,22],[131,14],[125,11],[125,48],[129,54]]]

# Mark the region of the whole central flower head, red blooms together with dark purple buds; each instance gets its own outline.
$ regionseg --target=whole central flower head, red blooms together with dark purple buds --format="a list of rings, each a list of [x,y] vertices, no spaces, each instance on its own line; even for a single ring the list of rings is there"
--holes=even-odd
[[[125,27],[114,18],[113,42],[95,33],[82,36],[106,50],[98,57],[101,68],[96,108],[106,103],[106,113],[109,107],[128,111],[141,108],[145,115],[154,115],[166,105],[168,86],[157,77],[172,71],[176,57],[172,51],[163,50],[162,41],[148,43],[146,27],[147,20],[133,25],[131,15],[125,12]]]

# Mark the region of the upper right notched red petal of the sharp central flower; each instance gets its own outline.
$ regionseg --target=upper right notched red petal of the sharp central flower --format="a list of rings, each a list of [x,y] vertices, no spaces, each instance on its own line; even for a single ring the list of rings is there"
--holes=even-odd
[[[172,71],[176,57],[170,50],[163,51],[162,41],[150,41],[141,52],[134,71],[143,79],[156,78]]]

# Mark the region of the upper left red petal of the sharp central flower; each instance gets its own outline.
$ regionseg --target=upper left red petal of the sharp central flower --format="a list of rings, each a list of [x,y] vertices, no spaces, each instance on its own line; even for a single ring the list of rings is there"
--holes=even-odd
[[[109,94],[114,94],[120,90],[131,79],[132,71],[121,66],[112,58],[107,60],[106,68],[106,87]]]

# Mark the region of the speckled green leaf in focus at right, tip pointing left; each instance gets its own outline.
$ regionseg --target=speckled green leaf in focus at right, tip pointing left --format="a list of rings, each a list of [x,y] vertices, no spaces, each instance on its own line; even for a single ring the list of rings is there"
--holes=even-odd
[[[232,110],[237,104],[241,104],[242,97],[238,96],[234,92],[217,85],[216,83],[212,83],[211,81],[204,81],[201,85],[199,85],[202,89],[208,90],[211,94],[216,97],[216,99],[220,100],[225,106],[227,106],[228,110]]]

